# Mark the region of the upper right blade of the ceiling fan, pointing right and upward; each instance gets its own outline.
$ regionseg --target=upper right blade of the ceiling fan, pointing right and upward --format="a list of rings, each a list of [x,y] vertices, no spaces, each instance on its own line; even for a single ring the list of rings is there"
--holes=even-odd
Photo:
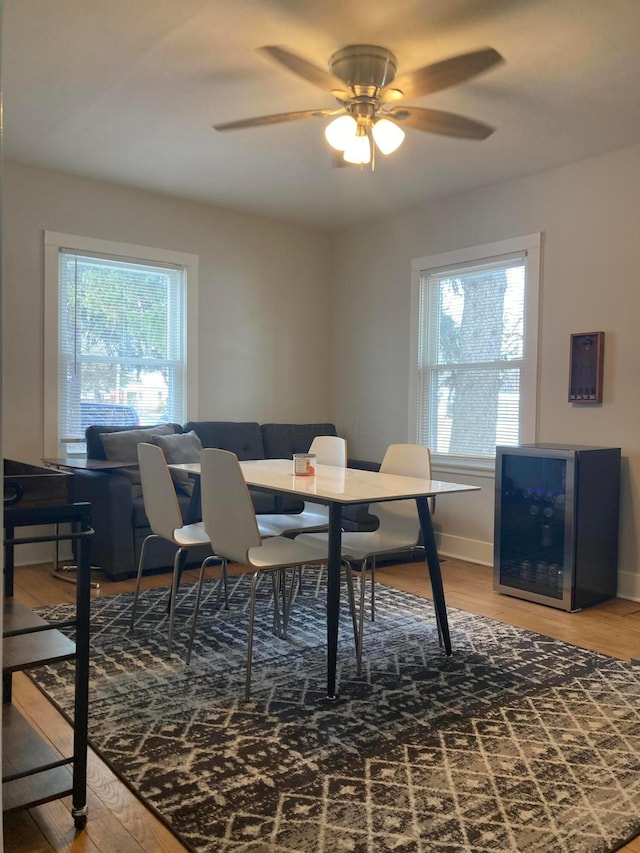
[[[457,83],[463,83],[494,65],[504,62],[504,58],[492,47],[452,56],[433,65],[425,65],[407,74],[396,77],[381,91],[383,101],[399,101],[403,98],[420,98],[431,92],[439,92]]]

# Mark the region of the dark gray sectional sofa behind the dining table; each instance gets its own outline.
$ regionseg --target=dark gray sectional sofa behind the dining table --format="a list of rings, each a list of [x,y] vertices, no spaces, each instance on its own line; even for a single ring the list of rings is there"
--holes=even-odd
[[[241,461],[247,459],[290,459],[294,453],[309,449],[316,435],[335,435],[331,423],[316,424],[259,424],[235,421],[189,421],[183,425],[172,424],[175,433],[194,431],[203,447],[220,447],[231,450]],[[86,430],[87,458],[106,459],[102,435],[132,430],[135,427],[92,425]],[[139,427],[138,429],[149,429]],[[127,460],[128,461],[128,460]],[[135,459],[132,458],[132,465]],[[377,469],[375,463],[349,460],[350,467]],[[135,484],[131,472],[88,471],[74,472],[74,499],[89,501],[95,533],[92,537],[91,561],[99,566],[111,580],[132,576],[138,568],[140,548],[149,535],[149,522],[144,511],[141,489]],[[252,492],[256,512],[300,512],[302,502],[287,496],[272,496]],[[178,490],[178,500],[185,520],[195,520],[197,507],[191,506],[191,497]],[[189,517],[189,513],[192,513]],[[343,513],[344,528],[348,530],[373,530],[375,516],[366,506],[352,507]],[[175,549],[170,543],[154,540],[147,551],[145,563],[149,570],[169,569],[173,565]],[[194,550],[189,562],[199,564],[206,552]]]

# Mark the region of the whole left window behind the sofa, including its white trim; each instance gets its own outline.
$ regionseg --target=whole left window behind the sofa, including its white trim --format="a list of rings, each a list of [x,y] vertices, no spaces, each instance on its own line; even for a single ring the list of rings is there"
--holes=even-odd
[[[45,244],[50,449],[84,452],[92,423],[185,421],[197,259],[49,233]]]

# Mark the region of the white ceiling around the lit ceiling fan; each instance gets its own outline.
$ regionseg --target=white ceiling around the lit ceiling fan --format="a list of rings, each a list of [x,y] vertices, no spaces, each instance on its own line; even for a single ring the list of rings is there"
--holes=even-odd
[[[286,221],[338,226],[640,143],[640,0],[4,0],[4,156]],[[399,73],[491,46],[506,62],[411,100],[491,124],[407,130],[376,171],[335,169],[336,106],[256,52],[326,68],[380,44]]]

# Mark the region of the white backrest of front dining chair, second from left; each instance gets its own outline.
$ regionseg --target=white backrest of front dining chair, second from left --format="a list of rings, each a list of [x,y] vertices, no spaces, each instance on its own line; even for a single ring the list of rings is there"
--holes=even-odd
[[[248,551],[262,540],[238,457],[207,447],[200,466],[202,521],[215,553],[250,565]]]

